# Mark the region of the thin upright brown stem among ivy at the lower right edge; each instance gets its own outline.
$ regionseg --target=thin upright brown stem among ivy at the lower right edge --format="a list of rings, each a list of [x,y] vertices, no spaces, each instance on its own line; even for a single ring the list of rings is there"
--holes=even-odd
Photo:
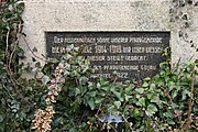
[[[194,81],[195,81],[194,79],[195,79],[195,64],[193,67],[193,73],[191,73],[191,91],[190,91],[190,99],[189,99],[189,106],[188,106],[188,114],[187,114],[188,117],[187,117],[185,129],[184,129],[185,132],[188,132],[188,128],[190,124],[190,113],[191,113],[193,98],[194,98]]]

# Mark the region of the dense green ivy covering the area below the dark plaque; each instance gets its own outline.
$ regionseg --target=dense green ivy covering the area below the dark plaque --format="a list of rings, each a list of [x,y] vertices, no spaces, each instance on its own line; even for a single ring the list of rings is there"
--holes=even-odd
[[[139,88],[130,80],[89,80],[89,62],[78,54],[72,45],[61,61],[53,61],[65,65],[65,82],[54,106],[53,131],[182,131],[188,120],[190,131],[198,129],[197,63],[170,68],[164,62],[160,73],[145,78]]]

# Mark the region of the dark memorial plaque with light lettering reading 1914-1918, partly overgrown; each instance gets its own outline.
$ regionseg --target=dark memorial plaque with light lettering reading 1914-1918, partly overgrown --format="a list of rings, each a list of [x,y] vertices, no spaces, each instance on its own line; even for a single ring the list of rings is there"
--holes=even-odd
[[[119,80],[152,77],[158,70],[164,48],[169,46],[169,32],[46,32],[48,57],[65,54],[70,44],[87,45],[82,51],[95,73],[90,78]]]

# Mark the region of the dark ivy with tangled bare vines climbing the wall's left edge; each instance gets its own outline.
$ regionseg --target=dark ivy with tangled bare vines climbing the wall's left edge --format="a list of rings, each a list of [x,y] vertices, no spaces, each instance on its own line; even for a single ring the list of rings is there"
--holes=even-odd
[[[35,106],[42,106],[43,84],[20,77],[19,46],[24,4],[20,0],[0,2],[0,132],[30,131]]]

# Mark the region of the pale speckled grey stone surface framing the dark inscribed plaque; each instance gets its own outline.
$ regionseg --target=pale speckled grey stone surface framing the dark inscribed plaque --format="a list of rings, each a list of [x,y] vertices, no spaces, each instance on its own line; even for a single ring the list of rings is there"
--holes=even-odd
[[[36,56],[46,55],[47,31],[169,31],[172,62],[198,58],[198,7],[186,7],[190,26],[184,29],[182,21],[172,22],[169,13],[173,0],[24,0],[23,13],[26,46],[21,44],[31,58],[30,50],[37,48]],[[177,9],[178,11],[178,9]],[[178,13],[178,12],[176,12]],[[174,14],[179,15],[179,14]],[[188,34],[188,42],[178,32]],[[189,40],[195,47],[191,47]],[[197,46],[198,47],[198,46]]]

